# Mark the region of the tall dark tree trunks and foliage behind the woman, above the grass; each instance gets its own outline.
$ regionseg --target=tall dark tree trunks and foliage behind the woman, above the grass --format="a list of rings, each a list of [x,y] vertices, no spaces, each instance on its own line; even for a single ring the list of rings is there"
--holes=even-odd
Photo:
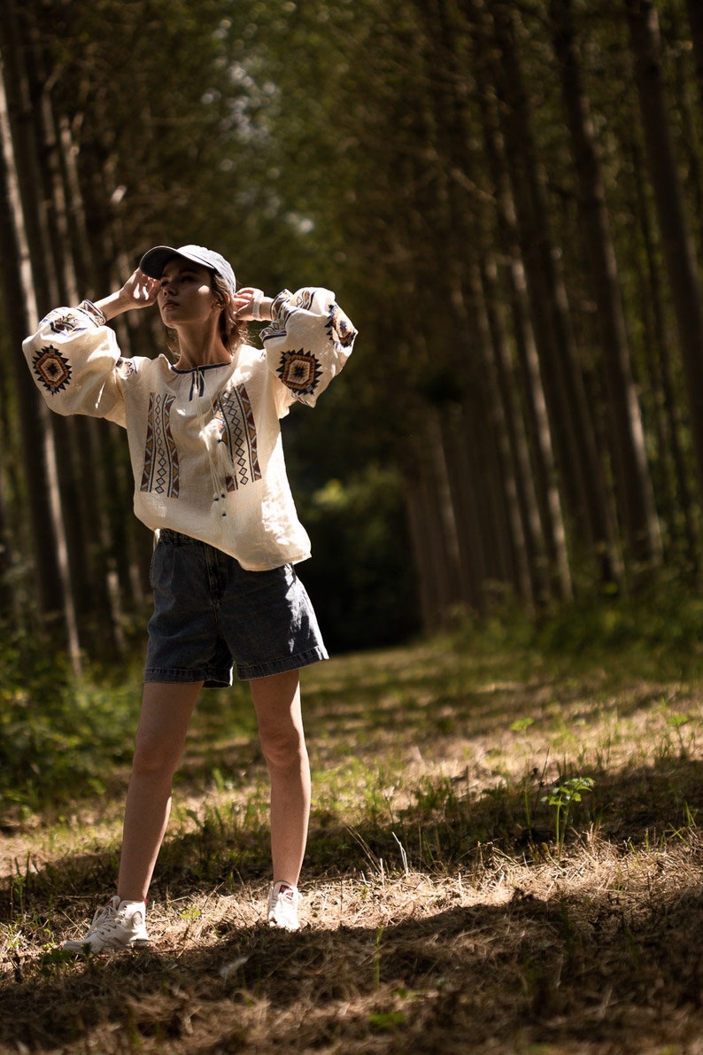
[[[121,430],[52,415],[20,346],[190,242],[272,294],[329,286],[359,330],[285,425],[335,649],[696,594],[697,0],[4,0],[0,47],[13,634],[79,670],[141,633]],[[125,356],[163,350],[143,314]]]

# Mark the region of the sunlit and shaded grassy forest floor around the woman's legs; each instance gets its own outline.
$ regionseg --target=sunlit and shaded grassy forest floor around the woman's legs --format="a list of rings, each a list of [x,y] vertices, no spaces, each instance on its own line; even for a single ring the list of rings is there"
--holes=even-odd
[[[112,890],[121,753],[100,795],[89,773],[6,811],[0,1051],[703,1050],[695,663],[464,636],[339,657],[304,693],[304,929],[262,925],[265,767],[246,697],[208,694],[150,951],[56,948]]]

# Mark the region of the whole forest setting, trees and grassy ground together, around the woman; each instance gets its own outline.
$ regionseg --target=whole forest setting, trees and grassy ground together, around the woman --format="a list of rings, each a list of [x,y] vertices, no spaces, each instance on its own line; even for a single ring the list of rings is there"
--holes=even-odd
[[[703,3],[0,0],[0,1051],[701,1055]],[[75,956],[153,538],[123,430],[21,345],[190,243],[358,329],[282,424],[334,657],[302,926],[235,683],[151,947]]]

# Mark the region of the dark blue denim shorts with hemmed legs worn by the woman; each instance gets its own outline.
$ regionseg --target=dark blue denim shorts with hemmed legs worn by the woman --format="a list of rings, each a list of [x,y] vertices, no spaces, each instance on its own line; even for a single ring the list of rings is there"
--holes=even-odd
[[[220,550],[162,530],[151,569],[145,682],[232,685],[327,659],[317,619],[292,564],[246,572]]]

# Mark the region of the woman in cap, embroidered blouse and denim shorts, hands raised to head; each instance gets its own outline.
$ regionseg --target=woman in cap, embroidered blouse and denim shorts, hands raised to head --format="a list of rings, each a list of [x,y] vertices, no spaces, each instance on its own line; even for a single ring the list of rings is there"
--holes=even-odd
[[[165,356],[123,359],[105,323],[158,303]],[[263,349],[246,321],[270,321]],[[52,311],[24,353],[50,407],[126,429],[135,513],[156,535],[141,715],[124,813],[117,893],[64,948],[149,941],[147,894],[171,809],[171,785],[201,688],[250,682],[271,776],[271,926],[297,929],[310,768],[298,671],[327,658],[293,564],[310,555],[279,421],[314,405],[356,331],[327,289],[274,300],[237,290],[202,246],[157,246],[117,292]]]

